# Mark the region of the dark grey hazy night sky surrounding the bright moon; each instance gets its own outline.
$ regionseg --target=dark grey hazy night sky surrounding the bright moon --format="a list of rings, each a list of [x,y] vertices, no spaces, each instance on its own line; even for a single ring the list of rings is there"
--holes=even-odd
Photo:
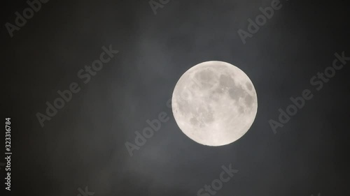
[[[6,24],[29,5],[4,1],[1,114],[10,117],[13,154],[10,191],[0,165],[1,196],[350,195],[349,59],[310,82],[336,53],[350,57],[349,6],[281,0],[244,44],[237,31],[248,32],[248,19],[272,1],[154,0],[154,10],[149,0],[51,0],[12,37]],[[86,70],[101,56],[99,70]],[[204,61],[231,63],[255,86],[255,121],[232,144],[198,144],[174,120],[176,82]],[[48,116],[47,103],[69,89],[76,93]],[[312,98],[274,133],[269,121],[305,89]],[[50,120],[42,126],[38,115]],[[127,142],[160,115],[167,120],[130,156]],[[6,163],[5,133],[0,139]],[[197,193],[229,165],[238,170],[230,181]]]

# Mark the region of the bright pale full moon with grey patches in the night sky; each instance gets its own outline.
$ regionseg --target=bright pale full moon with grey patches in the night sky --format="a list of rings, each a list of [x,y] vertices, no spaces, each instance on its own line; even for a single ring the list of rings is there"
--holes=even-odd
[[[258,98],[249,77],[223,61],[197,64],[184,73],[172,95],[172,112],[185,135],[203,145],[235,142],[251,127]]]

